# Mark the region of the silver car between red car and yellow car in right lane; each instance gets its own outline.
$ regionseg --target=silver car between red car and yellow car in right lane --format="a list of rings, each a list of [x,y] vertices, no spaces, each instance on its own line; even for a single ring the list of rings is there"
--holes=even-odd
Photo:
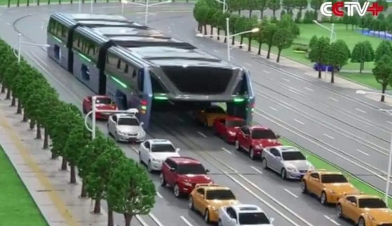
[[[291,146],[265,148],[261,153],[264,169],[280,173],[282,179],[301,179],[314,166],[298,149]]]

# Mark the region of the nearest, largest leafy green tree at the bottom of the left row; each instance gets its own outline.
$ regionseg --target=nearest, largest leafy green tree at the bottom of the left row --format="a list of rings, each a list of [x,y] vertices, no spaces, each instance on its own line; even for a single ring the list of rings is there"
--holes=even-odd
[[[151,211],[156,190],[147,171],[134,160],[118,163],[112,168],[107,183],[107,203],[111,210],[122,213],[125,226],[130,226],[135,215],[145,215]]]

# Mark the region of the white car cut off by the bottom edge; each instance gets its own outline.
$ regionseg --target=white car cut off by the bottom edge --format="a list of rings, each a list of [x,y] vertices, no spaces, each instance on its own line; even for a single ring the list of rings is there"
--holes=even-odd
[[[267,217],[256,205],[235,204],[219,209],[218,226],[274,226],[274,219]]]

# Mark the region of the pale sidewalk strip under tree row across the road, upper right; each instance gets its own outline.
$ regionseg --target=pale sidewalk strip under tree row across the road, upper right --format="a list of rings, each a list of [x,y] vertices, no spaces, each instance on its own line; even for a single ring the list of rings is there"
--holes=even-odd
[[[195,31],[196,31],[196,33],[198,33],[197,29],[195,29]],[[204,29],[203,29],[203,31],[204,31]],[[208,31],[207,32],[208,35],[205,38],[211,38],[209,36],[210,35],[210,33],[209,33],[210,26],[209,25],[207,25],[207,31]],[[225,32],[223,30],[221,30],[220,34],[217,34],[217,29],[214,28],[213,31],[212,31],[212,35],[225,36]],[[217,40],[216,37],[213,37],[211,39],[216,41],[216,42],[221,42],[222,44],[223,44],[223,41],[224,41],[224,38],[220,38],[220,40]],[[235,45],[239,46],[240,42],[236,41]],[[267,56],[267,51],[261,49],[261,52],[260,52],[261,55],[258,55],[257,54],[258,53],[258,48],[257,47],[252,46],[251,47],[251,51],[248,52],[248,46],[246,44],[242,44],[242,46],[243,47],[240,50],[245,51],[245,52],[247,52],[249,54],[253,54],[253,55],[258,56],[260,58],[263,58],[263,59],[265,59],[267,61],[270,61],[271,64],[276,64],[277,66],[282,65],[282,66],[285,66],[285,67],[295,67],[295,68],[298,68],[301,71],[303,71],[303,75],[307,75],[307,76],[312,77],[312,78],[317,78],[318,77],[318,71],[314,71],[313,68],[311,68],[310,66],[307,66],[305,64],[301,64],[299,62],[296,62],[294,60],[290,60],[289,58],[285,58],[285,57],[282,57],[282,56],[280,57],[279,63],[276,63],[275,62],[276,57],[277,57],[276,54],[270,53],[270,57],[271,58],[268,60],[268,59],[265,58],[265,56]],[[323,72],[322,73],[322,77],[319,80],[327,82],[327,83],[330,83],[331,73],[327,73],[325,75],[325,73]],[[351,82],[349,80],[346,80],[346,79],[338,77],[338,76],[335,76],[335,83],[334,83],[334,85],[342,87],[342,88],[347,88],[347,89],[356,89],[356,90],[357,89],[361,89],[361,90],[366,90],[366,91],[374,91],[373,89],[370,89],[369,87],[362,86],[362,85],[360,85],[360,84],[358,84],[356,82]],[[380,95],[365,95],[365,97],[367,97],[367,98],[369,98],[371,100],[377,101],[377,102],[379,102],[380,98],[381,98]],[[389,106],[392,106],[392,98],[391,97],[385,97],[385,104],[387,104]]]

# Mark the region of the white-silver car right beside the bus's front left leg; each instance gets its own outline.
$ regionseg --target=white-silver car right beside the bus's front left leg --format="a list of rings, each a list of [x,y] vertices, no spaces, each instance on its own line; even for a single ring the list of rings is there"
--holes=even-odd
[[[114,114],[107,120],[109,135],[119,142],[142,142],[146,133],[143,122],[139,122],[134,114]]]

